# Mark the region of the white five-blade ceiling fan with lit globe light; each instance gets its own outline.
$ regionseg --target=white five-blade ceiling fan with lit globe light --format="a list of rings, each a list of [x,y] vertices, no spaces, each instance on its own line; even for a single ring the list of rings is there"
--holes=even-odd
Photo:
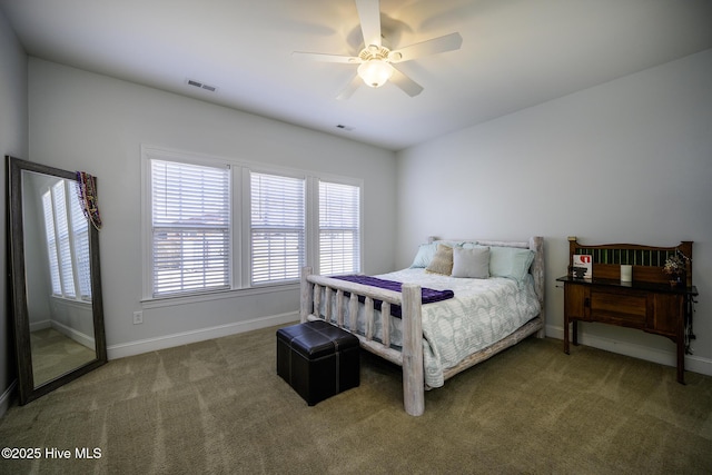
[[[364,34],[365,46],[358,56],[340,56],[303,51],[295,51],[291,53],[291,56],[297,59],[358,65],[357,75],[337,96],[337,99],[348,99],[362,83],[372,88],[379,88],[388,80],[405,91],[408,96],[415,97],[423,91],[423,87],[400,72],[394,65],[412,61],[427,55],[457,50],[463,43],[463,38],[459,33],[451,33],[400,49],[390,50],[382,44],[380,41],[379,1],[355,0],[355,2],[356,9],[358,10],[358,18],[360,19],[360,29]]]

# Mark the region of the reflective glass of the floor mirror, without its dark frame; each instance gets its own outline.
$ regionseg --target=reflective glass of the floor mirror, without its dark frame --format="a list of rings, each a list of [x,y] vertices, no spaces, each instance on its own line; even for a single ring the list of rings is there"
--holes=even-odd
[[[34,386],[97,357],[89,222],[75,188],[76,181],[22,170],[24,269],[33,283],[27,296]]]

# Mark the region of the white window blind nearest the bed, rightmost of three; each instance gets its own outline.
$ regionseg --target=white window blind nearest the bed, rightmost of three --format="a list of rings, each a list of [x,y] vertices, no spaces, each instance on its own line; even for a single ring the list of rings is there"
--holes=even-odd
[[[319,181],[319,273],[360,271],[360,188]]]

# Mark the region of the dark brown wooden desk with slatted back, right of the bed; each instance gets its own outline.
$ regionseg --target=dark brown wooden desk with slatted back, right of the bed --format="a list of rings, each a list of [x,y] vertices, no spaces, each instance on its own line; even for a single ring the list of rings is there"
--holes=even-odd
[[[692,243],[670,248],[640,245],[583,246],[568,238],[570,268],[574,255],[590,255],[590,279],[568,275],[556,279],[564,284],[564,353],[570,353],[570,324],[573,344],[578,344],[578,321],[596,321],[636,328],[662,335],[676,344],[678,382],[684,384],[684,355],[690,350],[692,314],[698,289],[692,285]],[[662,268],[665,259],[682,253],[688,260],[684,281],[671,285]],[[621,265],[633,266],[633,280],[620,279]]]

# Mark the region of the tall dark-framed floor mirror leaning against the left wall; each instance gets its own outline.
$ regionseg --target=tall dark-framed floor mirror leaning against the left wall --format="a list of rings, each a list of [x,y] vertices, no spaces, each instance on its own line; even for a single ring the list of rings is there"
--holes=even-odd
[[[24,405],[107,362],[99,232],[82,209],[77,174],[6,160],[9,285]]]

